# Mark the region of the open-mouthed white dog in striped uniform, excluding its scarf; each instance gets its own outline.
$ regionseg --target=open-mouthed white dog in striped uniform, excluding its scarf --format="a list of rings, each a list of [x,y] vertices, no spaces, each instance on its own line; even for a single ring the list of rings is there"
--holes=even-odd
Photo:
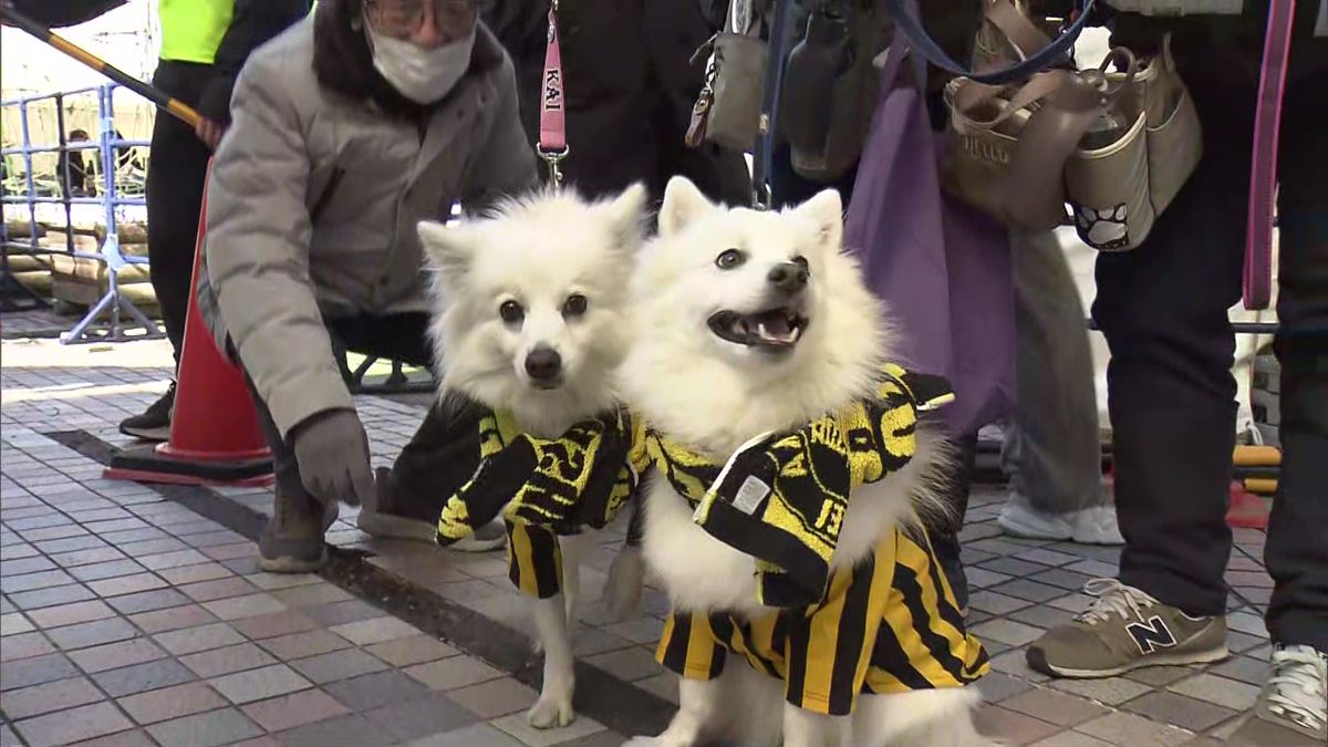
[[[762,213],[713,205],[689,181],[675,178],[659,227],[632,278],[632,347],[619,389],[633,417],[722,464],[753,437],[795,429],[874,396],[891,338],[882,304],[866,288],[857,261],[842,251],[838,193]],[[791,613],[762,606],[757,561],[703,530],[671,480],[652,480],[644,492],[645,561],[675,610],[657,655],[683,678],[669,727],[633,743],[988,743],[973,728],[971,712],[980,695],[969,686],[985,671],[985,655],[964,633],[930,545],[914,530],[919,510],[935,502],[927,488],[938,480],[944,455],[943,440],[919,429],[916,451],[902,469],[853,492],[829,568],[845,577],[869,566],[895,569],[886,586],[872,586],[872,609],[884,609],[872,613],[874,621],[831,609],[842,607],[842,599]],[[883,546],[895,557],[883,557]],[[906,601],[914,606],[906,607]],[[928,606],[944,611],[928,615]],[[806,631],[799,622],[831,613],[838,615],[834,630],[818,631],[819,623],[813,623]],[[685,633],[684,614],[691,615]],[[847,694],[827,685],[831,691],[817,695],[813,681],[833,681],[838,675],[830,673],[841,662],[817,661],[810,653],[795,662],[802,654],[789,649],[789,641],[803,626],[811,641],[803,649],[817,647],[818,635],[830,649],[842,649],[854,625],[854,645],[871,657],[866,685]],[[726,666],[722,653],[706,650],[709,643],[700,646],[696,665],[699,626],[721,639],[716,650],[728,649]],[[863,633],[876,627],[879,634]],[[947,645],[952,649],[940,650]],[[667,661],[675,653],[677,669]],[[829,658],[842,655],[831,651]],[[853,682],[859,682],[869,662],[865,654],[853,655],[861,663],[850,661],[847,670],[851,681],[858,667]],[[838,695],[834,687],[841,687]],[[851,704],[839,712],[807,704],[837,696]]]

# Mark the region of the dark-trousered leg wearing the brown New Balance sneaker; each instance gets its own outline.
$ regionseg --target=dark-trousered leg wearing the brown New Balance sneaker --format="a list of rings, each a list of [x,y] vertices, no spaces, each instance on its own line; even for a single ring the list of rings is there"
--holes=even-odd
[[[1178,52],[1181,52],[1178,49]],[[1029,665],[1109,677],[1226,653],[1226,524],[1235,445],[1235,338],[1254,81],[1216,49],[1179,56],[1204,158],[1143,246],[1097,262],[1094,318],[1108,371],[1116,505],[1126,546],[1093,610],[1046,633]],[[1197,64],[1187,65],[1189,60]]]

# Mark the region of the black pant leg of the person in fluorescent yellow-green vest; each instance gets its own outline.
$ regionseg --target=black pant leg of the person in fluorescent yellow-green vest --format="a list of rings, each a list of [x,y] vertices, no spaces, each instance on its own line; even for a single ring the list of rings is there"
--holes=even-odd
[[[198,104],[211,69],[211,65],[162,61],[153,74],[153,85],[193,106]],[[146,185],[147,258],[153,291],[177,363],[185,340],[198,214],[211,154],[189,125],[170,114],[157,114]]]

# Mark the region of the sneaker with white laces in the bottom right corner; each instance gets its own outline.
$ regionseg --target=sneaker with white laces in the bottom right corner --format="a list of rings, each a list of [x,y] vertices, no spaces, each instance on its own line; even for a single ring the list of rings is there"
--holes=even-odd
[[[1254,712],[1231,744],[1328,744],[1328,653],[1309,646],[1278,646],[1272,673]]]

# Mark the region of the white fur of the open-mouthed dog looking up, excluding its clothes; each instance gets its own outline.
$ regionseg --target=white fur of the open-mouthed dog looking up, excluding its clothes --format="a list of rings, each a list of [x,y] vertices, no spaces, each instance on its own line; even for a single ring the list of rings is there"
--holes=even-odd
[[[712,205],[676,177],[659,226],[632,278],[633,340],[619,370],[619,391],[636,416],[722,461],[753,436],[797,427],[874,392],[891,335],[857,261],[841,249],[838,193],[758,213]],[[716,258],[728,249],[746,253],[746,262],[718,268]],[[777,306],[766,275],[795,257],[810,271],[803,291],[810,322],[793,351],[753,350],[710,331],[706,322],[718,311],[754,314]],[[928,485],[942,479],[946,453],[942,439],[920,432],[907,468],[854,493],[833,568],[851,566],[900,522],[935,509]],[[645,560],[675,609],[769,611],[754,602],[753,558],[693,524],[692,509],[667,480],[652,481],[645,501]],[[778,744],[782,732],[790,747],[984,743],[971,719],[979,700],[973,689],[863,695],[853,716],[831,718],[788,704],[781,711],[782,687],[748,669],[725,667],[710,682],[681,679],[677,715],[645,742]]]

